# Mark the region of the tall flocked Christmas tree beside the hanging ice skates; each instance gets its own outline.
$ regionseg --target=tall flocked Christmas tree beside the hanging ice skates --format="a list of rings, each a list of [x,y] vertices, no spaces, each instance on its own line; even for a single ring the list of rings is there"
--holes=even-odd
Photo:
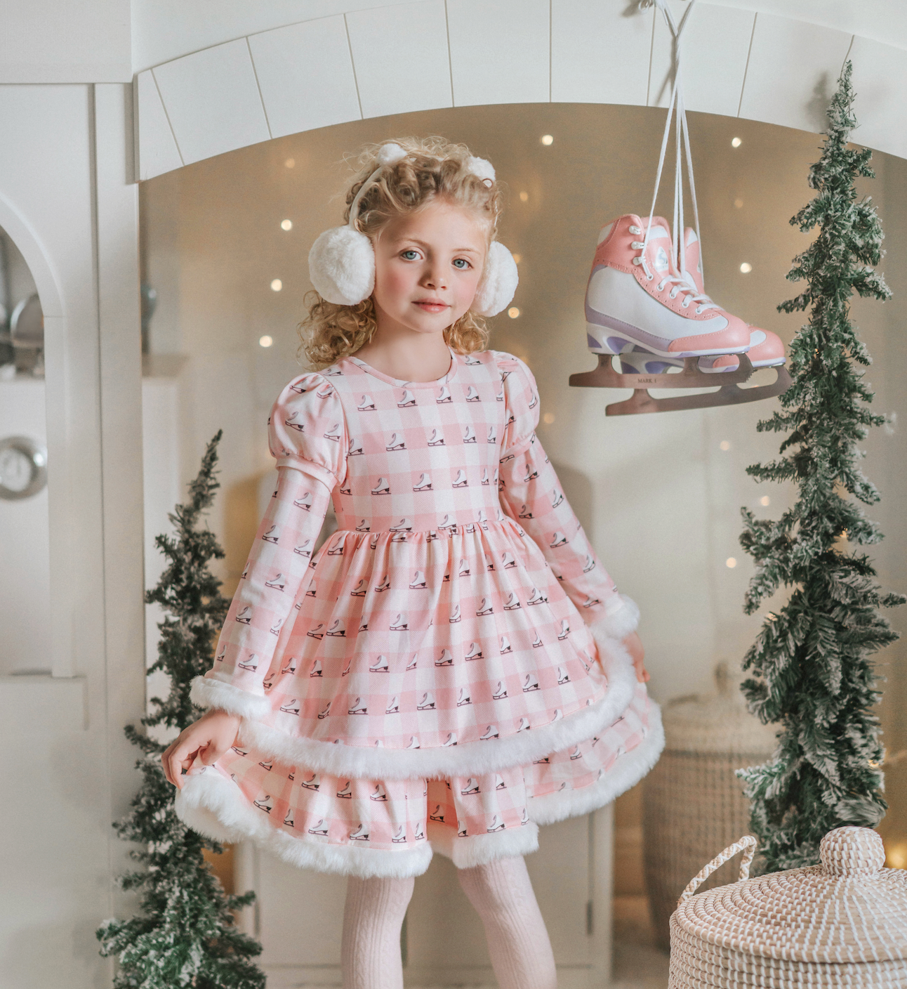
[[[829,108],[822,156],[809,172],[817,195],[790,221],[803,231],[819,229],[787,274],[806,289],[779,310],[809,310],[809,322],[790,344],[793,383],[780,398],[783,410],[757,426],[788,435],[779,460],[747,468],[760,481],[792,481],[798,488],[778,521],[743,509],[740,537],[756,561],[747,614],[781,586],[792,588],[744,661],[753,674],[743,683],[751,710],[781,727],[774,758],[739,773],[769,870],[817,862],[828,831],[872,827],[886,807],[871,654],[898,637],[879,608],[905,598],[882,592],[866,554],[853,549],[882,538],[860,503],[879,495],[858,466],[863,454],[856,444],[885,417],[867,407],[872,393],[857,365],[870,358],[851,321],[850,300],[855,292],[878,300],[891,293],[873,270],[881,258],[881,224],[854,187],[873,172],[871,152],[848,146],[857,126],[853,102],[848,61]]]

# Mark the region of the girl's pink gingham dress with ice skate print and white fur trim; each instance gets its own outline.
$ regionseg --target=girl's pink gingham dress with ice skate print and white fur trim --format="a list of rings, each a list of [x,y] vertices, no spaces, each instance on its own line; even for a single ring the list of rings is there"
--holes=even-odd
[[[433,850],[467,867],[535,851],[538,824],[658,757],[619,645],[635,606],[538,442],[532,372],[451,353],[433,382],[343,358],[274,405],[277,491],[194,684],[243,719],[179,794],[211,837],[364,876]],[[328,498],[338,529],[313,553]]]

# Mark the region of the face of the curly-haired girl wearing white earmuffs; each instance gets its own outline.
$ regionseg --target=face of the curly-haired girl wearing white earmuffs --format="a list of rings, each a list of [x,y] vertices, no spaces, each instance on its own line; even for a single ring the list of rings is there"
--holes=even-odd
[[[436,200],[391,220],[374,240],[378,327],[440,333],[472,305],[485,263],[485,226]]]

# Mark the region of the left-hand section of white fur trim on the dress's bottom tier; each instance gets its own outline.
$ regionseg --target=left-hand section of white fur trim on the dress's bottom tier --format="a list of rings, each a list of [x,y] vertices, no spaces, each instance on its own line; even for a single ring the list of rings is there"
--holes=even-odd
[[[292,838],[269,823],[262,811],[249,806],[239,788],[210,767],[203,773],[185,777],[183,788],[176,796],[175,809],[184,824],[215,842],[251,839],[291,865],[319,872],[358,875],[364,879],[371,876],[404,879],[422,875],[432,860],[428,840],[412,850],[387,852]]]

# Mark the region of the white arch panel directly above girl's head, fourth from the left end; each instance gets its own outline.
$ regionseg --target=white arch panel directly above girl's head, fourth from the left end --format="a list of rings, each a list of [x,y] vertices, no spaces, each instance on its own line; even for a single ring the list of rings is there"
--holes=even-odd
[[[364,117],[453,106],[443,0],[347,15]]]

